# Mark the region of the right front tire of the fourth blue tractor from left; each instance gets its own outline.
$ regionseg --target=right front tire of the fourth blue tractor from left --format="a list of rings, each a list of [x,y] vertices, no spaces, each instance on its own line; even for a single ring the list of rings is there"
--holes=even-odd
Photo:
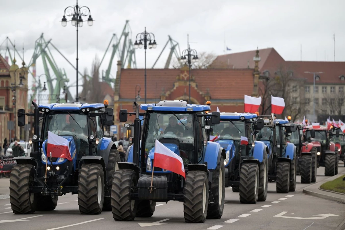
[[[285,161],[277,162],[277,193],[288,193],[290,189],[290,163]]]

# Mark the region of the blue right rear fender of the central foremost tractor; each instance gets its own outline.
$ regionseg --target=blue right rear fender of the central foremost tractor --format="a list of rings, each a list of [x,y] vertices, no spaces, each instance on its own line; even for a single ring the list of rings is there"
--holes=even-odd
[[[205,150],[205,161],[207,162],[207,169],[215,170],[220,160],[220,156],[223,159],[226,158],[225,149],[217,142],[207,141]]]

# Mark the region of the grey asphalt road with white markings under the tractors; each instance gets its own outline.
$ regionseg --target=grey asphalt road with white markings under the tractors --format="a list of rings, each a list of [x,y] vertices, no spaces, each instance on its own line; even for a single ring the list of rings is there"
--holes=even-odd
[[[345,168],[343,164],[339,163],[339,176],[342,173],[345,173]],[[317,182],[328,178],[323,174],[324,168],[318,168]],[[78,210],[77,195],[59,197],[58,206],[54,211],[35,212],[28,215],[13,214],[9,204],[10,200],[2,199],[0,200],[0,229],[335,229],[345,218],[345,205],[302,193],[302,189],[309,185],[301,184],[300,177],[297,176],[295,192],[277,194],[275,183],[269,183],[267,200],[256,204],[241,204],[239,193],[234,193],[231,188],[227,188],[223,217],[216,220],[207,219],[205,223],[197,224],[184,221],[183,203],[177,201],[157,203],[155,213],[150,218],[136,218],[135,221],[119,222],[114,221],[111,212],[102,212],[100,215],[92,216],[81,215]],[[330,215],[318,216],[320,214]]]

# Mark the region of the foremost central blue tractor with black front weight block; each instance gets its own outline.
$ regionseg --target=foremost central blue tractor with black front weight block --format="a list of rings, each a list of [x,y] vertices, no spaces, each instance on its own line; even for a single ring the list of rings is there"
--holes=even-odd
[[[209,114],[208,105],[186,101],[135,102],[136,112],[119,112],[120,122],[135,115],[133,145],[127,162],[118,162],[112,182],[112,214],[117,221],[151,217],[156,202],[184,203],[186,222],[205,222],[223,215],[225,197],[225,149],[208,141],[210,125],[219,124],[219,112]],[[142,130],[139,116],[144,116]],[[183,160],[186,178],[164,168],[154,167],[155,141]],[[153,171],[152,171],[153,170]]]

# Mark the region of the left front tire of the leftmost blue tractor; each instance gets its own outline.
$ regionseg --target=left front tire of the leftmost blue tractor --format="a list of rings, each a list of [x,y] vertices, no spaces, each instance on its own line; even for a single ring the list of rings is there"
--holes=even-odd
[[[34,173],[31,164],[16,164],[11,169],[10,203],[14,214],[31,214],[36,210],[37,194],[29,190]]]

